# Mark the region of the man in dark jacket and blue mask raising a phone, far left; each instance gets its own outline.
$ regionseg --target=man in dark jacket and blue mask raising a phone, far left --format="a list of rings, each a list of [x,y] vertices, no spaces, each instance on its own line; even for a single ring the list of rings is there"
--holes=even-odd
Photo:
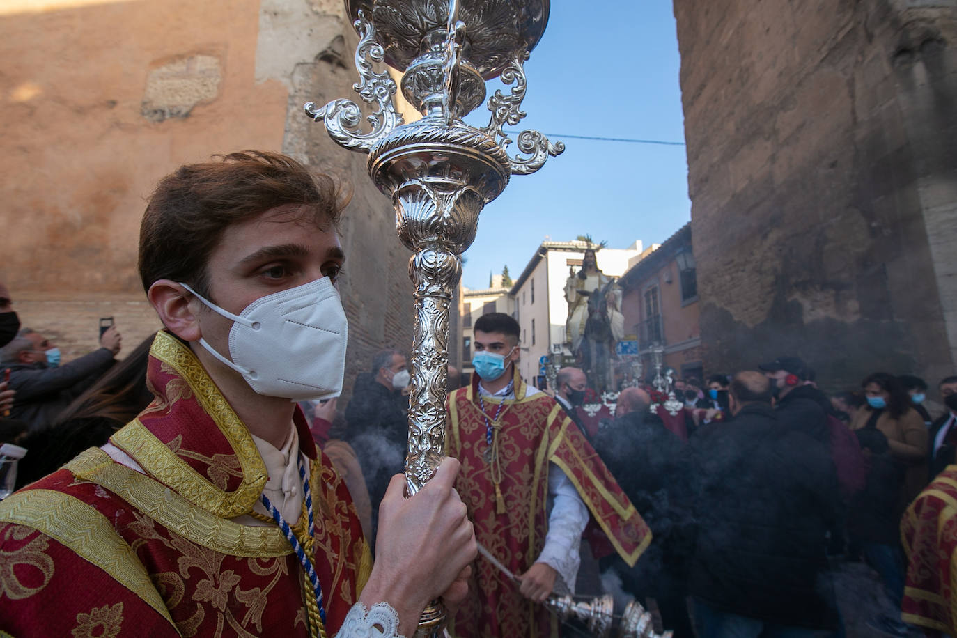
[[[53,425],[60,411],[95,384],[116,363],[122,338],[116,326],[100,339],[100,348],[70,363],[60,364],[56,343],[31,328],[23,328],[0,348],[0,370],[10,368],[15,391],[11,418],[31,431]]]

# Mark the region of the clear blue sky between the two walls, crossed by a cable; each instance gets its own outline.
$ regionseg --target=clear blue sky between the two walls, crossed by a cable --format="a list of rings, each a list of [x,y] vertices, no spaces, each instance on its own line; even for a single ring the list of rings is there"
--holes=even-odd
[[[671,2],[613,0],[597,11],[553,0],[545,36],[525,63],[528,117],[510,130],[683,143],[679,68]],[[489,95],[497,88],[499,80],[488,82]],[[467,121],[484,126],[488,111],[479,106]],[[647,247],[690,219],[683,145],[563,141],[565,153],[513,176],[482,210],[465,286],[486,287],[489,271],[505,264],[518,276],[545,235]]]

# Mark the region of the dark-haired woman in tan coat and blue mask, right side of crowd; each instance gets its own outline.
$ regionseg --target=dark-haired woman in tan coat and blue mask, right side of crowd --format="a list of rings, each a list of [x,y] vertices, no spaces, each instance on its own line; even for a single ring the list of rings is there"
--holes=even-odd
[[[900,514],[927,483],[929,442],[924,419],[894,375],[875,372],[861,387],[867,404],[857,411],[851,429],[877,428],[887,437],[891,456],[904,471]]]

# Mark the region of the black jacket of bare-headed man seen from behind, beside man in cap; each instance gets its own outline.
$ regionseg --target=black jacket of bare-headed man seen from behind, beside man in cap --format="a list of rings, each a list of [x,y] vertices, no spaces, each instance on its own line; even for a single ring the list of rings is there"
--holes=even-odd
[[[691,445],[700,481],[691,594],[769,623],[835,627],[825,548],[837,480],[825,446],[762,404]]]

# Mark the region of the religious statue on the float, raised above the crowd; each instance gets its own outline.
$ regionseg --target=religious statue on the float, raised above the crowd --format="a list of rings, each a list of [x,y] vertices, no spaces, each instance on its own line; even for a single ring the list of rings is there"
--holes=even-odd
[[[621,314],[621,288],[614,277],[598,269],[597,254],[606,242],[594,244],[585,237],[588,248],[582,267],[573,270],[565,284],[568,321],[565,339],[595,392],[616,390],[614,379],[614,345],[625,334],[625,318]]]

